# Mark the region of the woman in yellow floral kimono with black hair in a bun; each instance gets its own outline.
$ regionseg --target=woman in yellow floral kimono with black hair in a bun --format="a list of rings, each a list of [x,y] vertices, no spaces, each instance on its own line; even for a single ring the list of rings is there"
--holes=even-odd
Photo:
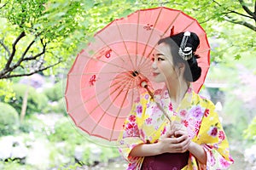
[[[154,50],[154,99],[143,94],[119,136],[127,169],[224,169],[233,163],[229,144],[212,102],[192,90],[201,77],[195,50],[199,38],[182,32],[161,39]],[[155,101],[171,117],[169,122]]]

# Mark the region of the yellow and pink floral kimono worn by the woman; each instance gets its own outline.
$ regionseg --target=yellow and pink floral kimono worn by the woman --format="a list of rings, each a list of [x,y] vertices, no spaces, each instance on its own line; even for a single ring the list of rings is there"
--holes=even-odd
[[[166,88],[154,92],[163,109],[172,121],[181,122],[187,128],[189,138],[207,152],[207,165],[202,165],[195,156],[189,154],[189,161],[183,169],[225,169],[230,167],[233,159],[230,156],[229,144],[223,127],[218,119],[215,106],[208,99],[203,99],[189,88],[176,111],[172,110],[172,102]],[[143,94],[135,101],[130,115],[127,116],[123,131],[119,135],[119,151],[128,161],[129,170],[139,170],[144,157],[129,156],[137,144],[156,143],[170,128],[166,116],[150,99]]]

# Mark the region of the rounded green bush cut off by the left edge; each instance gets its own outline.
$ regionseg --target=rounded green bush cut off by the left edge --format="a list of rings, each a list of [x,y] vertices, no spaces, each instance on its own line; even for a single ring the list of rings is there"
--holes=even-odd
[[[11,105],[0,102],[0,136],[14,134],[19,127],[19,114]]]

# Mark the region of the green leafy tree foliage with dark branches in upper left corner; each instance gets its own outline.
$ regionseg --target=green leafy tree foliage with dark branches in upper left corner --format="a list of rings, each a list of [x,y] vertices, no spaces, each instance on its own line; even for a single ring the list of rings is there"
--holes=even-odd
[[[88,3],[90,4],[90,3]],[[83,27],[79,1],[1,1],[0,78],[44,71],[76,51]]]

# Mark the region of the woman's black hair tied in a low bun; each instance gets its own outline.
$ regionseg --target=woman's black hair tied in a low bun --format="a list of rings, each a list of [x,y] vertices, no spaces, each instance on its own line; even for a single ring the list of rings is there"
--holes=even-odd
[[[180,47],[180,43],[183,40],[184,32],[180,32],[171,37],[165,37],[160,39],[158,44],[165,42],[171,49],[171,54],[173,58],[174,65],[177,63],[185,64],[184,78],[188,82],[195,82],[201,77],[201,67],[198,65],[197,60],[199,56],[195,54],[195,50],[198,48],[200,44],[199,37],[194,32],[190,32],[190,37],[187,41],[186,47],[192,48],[192,58],[188,60],[182,59],[182,57],[178,54],[178,50]]]

